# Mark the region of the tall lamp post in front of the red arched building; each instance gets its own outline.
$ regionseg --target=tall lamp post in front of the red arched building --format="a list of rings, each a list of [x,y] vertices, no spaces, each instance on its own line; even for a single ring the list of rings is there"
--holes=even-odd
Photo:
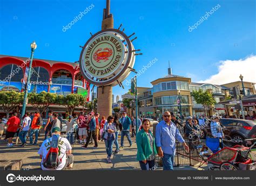
[[[33,54],[34,54],[34,51],[36,50],[36,47],[37,47],[36,42],[33,41],[33,43],[30,44],[30,47],[31,47],[31,57],[30,57],[30,63],[29,63],[28,80],[26,81],[25,92],[24,92],[24,100],[23,100],[23,104],[22,104],[21,118],[23,117],[23,115],[25,114],[25,111],[26,111],[26,99],[28,97],[28,85],[30,84]],[[22,120],[21,120],[21,123],[22,123]]]

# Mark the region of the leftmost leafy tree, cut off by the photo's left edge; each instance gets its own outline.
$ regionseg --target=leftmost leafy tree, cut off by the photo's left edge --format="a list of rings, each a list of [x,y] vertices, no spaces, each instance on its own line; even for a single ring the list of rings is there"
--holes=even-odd
[[[21,105],[24,99],[24,93],[15,91],[0,92],[0,106],[9,118],[9,113],[14,111],[17,106]]]

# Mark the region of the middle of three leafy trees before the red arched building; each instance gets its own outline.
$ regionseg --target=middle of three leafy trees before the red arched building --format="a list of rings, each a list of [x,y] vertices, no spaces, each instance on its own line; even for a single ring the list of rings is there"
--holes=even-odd
[[[42,115],[51,104],[55,104],[57,95],[45,91],[39,94],[32,92],[28,94],[28,98],[29,104],[35,107],[37,111],[40,112],[40,115]]]

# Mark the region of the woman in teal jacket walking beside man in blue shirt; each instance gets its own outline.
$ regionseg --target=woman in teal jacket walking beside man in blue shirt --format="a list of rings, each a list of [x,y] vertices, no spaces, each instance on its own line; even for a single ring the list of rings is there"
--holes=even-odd
[[[154,167],[154,159],[157,155],[156,144],[150,131],[150,121],[143,120],[143,129],[136,136],[137,160],[142,170],[151,170]]]

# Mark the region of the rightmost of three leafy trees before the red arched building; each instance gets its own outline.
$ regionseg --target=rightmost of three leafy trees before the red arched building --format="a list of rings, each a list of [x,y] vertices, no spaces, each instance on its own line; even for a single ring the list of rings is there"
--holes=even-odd
[[[56,104],[65,106],[69,115],[72,115],[76,107],[85,105],[85,101],[86,98],[80,94],[58,95],[56,98]]]

